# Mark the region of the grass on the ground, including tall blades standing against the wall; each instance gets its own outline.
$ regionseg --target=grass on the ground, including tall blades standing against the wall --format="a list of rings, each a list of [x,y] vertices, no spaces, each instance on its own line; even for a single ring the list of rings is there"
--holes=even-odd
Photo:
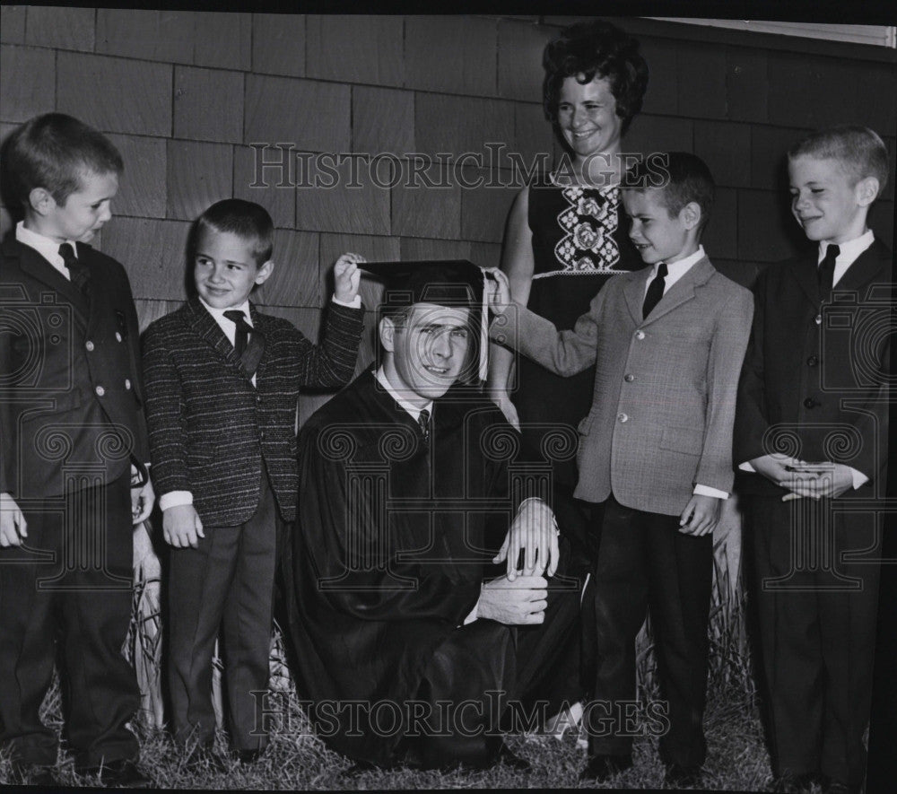
[[[151,559],[152,562],[152,559]],[[710,681],[704,730],[707,762],[701,790],[764,791],[771,789],[770,759],[763,744],[762,725],[751,655],[745,630],[745,599],[729,587],[727,565],[718,555],[715,588],[710,611]],[[283,654],[283,642],[275,633],[272,649],[271,687],[286,698],[288,720],[272,731],[270,745],[258,763],[231,763],[227,772],[202,772],[184,768],[184,759],[161,724],[161,623],[159,618],[158,564],[135,572],[134,629],[130,656],[144,692],[144,719],[135,725],[141,738],[140,766],[160,789],[212,790],[393,790],[393,789],[558,789],[577,788],[586,753],[568,733],[554,738],[509,737],[510,748],[532,763],[531,772],[517,772],[498,765],[483,772],[420,772],[398,770],[347,775],[352,762],[327,749],[309,731],[299,708]],[[151,586],[152,585],[152,586]],[[649,631],[639,642],[640,698],[657,700],[658,685]],[[220,693],[218,693],[220,696]],[[42,710],[46,724],[62,729],[58,685],[48,693]],[[151,727],[152,726],[152,727]],[[223,746],[225,738],[219,737]],[[663,788],[664,769],[658,759],[657,737],[636,739],[634,766],[598,788],[654,790]],[[0,783],[10,782],[11,765],[0,753]],[[74,774],[69,752],[60,753],[56,769],[62,786],[91,785]],[[94,783],[96,781],[93,781]],[[818,790],[812,794],[819,794]]]

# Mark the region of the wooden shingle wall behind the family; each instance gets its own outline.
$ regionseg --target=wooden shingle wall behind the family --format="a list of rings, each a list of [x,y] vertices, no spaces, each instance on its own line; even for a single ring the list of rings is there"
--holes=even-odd
[[[277,269],[257,301],[314,338],[341,251],[498,264],[517,189],[508,153],[528,167],[554,152],[541,53],[569,21],[544,22],[3,6],[0,135],[50,110],[109,133],[126,172],[116,217],[96,245],[126,266],[144,327],[183,300],[196,214],[227,196],[265,205],[278,229]],[[618,22],[640,38],[651,68],[624,146],[692,151],[708,162],[718,198],[705,247],[739,281],[799,244],[782,168],[798,136],[865,124],[883,135],[893,163],[893,53]],[[491,151],[501,155],[491,161]],[[259,179],[258,162],[282,153],[287,179],[276,166]],[[353,158],[328,166],[321,153]],[[472,154],[458,162],[463,153]],[[373,177],[361,154],[378,164]],[[415,173],[446,187],[409,186]],[[315,176],[335,187],[301,186]],[[872,220],[892,244],[893,184]],[[3,231],[10,224],[4,209]],[[365,287],[364,297],[370,308],[377,295]],[[369,333],[359,366],[372,355]],[[303,418],[324,399],[303,398]]]

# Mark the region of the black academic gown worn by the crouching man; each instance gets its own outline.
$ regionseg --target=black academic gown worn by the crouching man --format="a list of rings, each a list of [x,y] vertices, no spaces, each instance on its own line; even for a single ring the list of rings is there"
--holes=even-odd
[[[575,588],[555,599],[565,604],[557,619],[546,615],[546,650],[522,643],[527,664],[516,660],[519,631],[483,620],[457,630],[479,598],[484,563],[516,513],[515,480],[527,470],[509,462],[515,434],[501,412],[459,395],[436,402],[427,444],[368,371],[300,435],[299,516],[284,554],[297,690],[314,703],[318,735],[370,763],[404,754],[406,703],[482,701],[490,689],[512,698],[518,667],[550,673],[573,639]],[[459,638],[466,648],[454,647]],[[458,653],[463,668],[453,661]],[[498,716],[487,715],[485,727]],[[449,743],[436,752],[468,750]]]

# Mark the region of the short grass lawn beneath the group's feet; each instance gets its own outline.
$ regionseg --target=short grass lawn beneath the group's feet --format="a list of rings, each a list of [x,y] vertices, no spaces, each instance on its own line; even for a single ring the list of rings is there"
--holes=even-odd
[[[701,788],[706,790],[769,790],[769,755],[763,746],[762,729],[753,691],[727,686],[713,691],[704,725],[708,758]],[[509,737],[509,746],[533,764],[522,773],[499,765],[484,772],[363,772],[346,775],[351,763],[327,749],[318,737],[309,735],[308,723],[295,697],[290,695],[289,729],[274,733],[266,755],[256,764],[232,763],[228,772],[187,772],[170,737],[158,729],[138,727],[142,737],[141,767],[162,789],[213,790],[388,790],[388,789],[556,789],[576,788],[585,751],[568,733],[553,738]],[[44,720],[61,728],[58,688],[54,686],[44,704]],[[220,737],[220,741],[223,737]],[[635,765],[599,788],[663,788],[663,766],[658,760],[657,738],[635,742]],[[8,782],[10,765],[0,756],[0,782]],[[65,786],[90,785],[74,774],[71,755],[62,753],[57,777]]]

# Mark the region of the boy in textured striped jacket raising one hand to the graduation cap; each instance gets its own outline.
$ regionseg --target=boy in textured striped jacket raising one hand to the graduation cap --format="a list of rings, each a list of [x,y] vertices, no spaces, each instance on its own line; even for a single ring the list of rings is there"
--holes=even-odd
[[[191,763],[210,755],[212,656],[223,626],[231,742],[243,763],[255,735],[253,692],[268,683],[274,564],[295,517],[300,387],[344,385],[361,338],[363,258],[335,265],[324,342],[248,301],[271,275],[274,224],[239,199],[209,207],[188,245],[198,295],[147,328],[144,340],[152,476],[160,493],[169,577],[169,685],[176,740]]]

